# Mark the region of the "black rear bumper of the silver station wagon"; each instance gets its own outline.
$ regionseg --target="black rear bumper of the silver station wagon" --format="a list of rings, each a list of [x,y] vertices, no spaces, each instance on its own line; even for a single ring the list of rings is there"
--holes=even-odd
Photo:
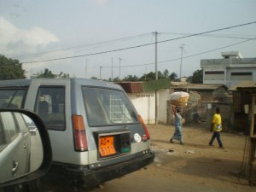
[[[148,166],[153,161],[154,153],[150,151],[148,154],[143,154],[143,156],[137,157],[133,160],[124,161],[116,165],[105,166],[97,169],[89,169],[88,166],[65,166],[65,171],[62,169],[61,175],[65,175],[66,178],[68,177],[69,181],[73,181],[73,185],[81,187],[93,187],[131,172],[136,172],[141,168]],[[55,166],[56,165],[52,165],[52,168]],[[63,171],[65,174],[63,174]]]

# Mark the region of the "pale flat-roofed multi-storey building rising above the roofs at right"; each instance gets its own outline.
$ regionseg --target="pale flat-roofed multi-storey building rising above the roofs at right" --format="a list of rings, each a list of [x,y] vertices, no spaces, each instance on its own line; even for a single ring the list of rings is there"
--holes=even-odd
[[[222,52],[222,59],[201,60],[203,84],[225,84],[228,88],[241,81],[256,81],[256,58],[242,58],[240,52]]]

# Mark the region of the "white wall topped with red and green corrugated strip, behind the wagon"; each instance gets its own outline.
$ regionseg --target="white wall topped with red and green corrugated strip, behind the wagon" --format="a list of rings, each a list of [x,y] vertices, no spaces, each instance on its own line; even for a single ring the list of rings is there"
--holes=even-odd
[[[155,118],[157,118],[157,123],[167,122],[167,101],[170,99],[171,85],[169,79],[149,82],[120,82],[117,84],[123,87],[145,124],[154,124]],[[157,97],[155,90],[157,90]],[[155,113],[156,104],[157,113]]]

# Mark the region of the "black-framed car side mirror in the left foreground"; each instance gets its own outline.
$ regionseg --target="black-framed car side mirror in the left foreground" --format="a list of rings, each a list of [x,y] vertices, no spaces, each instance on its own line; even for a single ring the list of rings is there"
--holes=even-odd
[[[51,160],[48,131],[38,115],[0,109],[0,191],[42,177]]]

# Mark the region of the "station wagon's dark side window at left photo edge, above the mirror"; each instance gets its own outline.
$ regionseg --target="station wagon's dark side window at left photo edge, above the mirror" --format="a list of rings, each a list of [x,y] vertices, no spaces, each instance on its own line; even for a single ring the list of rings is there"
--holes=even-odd
[[[26,89],[0,89],[0,108],[23,108]]]

